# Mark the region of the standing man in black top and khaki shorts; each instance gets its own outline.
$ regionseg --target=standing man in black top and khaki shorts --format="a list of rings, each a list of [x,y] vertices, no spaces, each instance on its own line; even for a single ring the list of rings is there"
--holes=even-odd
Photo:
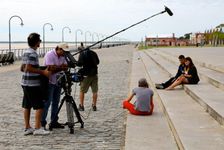
[[[96,52],[90,49],[84,49],[81,51],[78,59],[78,66],[82,66],[82,75],[86,76],[80,84],[80,104],[79,110],[84,111],[84,96],[88,92],[89,87],[92,89],[93,100],[92,100],[92,109],[93,111],[97,110],[96,101],[97,101],[97,92],[98,92],[98,67],[99,58]]]

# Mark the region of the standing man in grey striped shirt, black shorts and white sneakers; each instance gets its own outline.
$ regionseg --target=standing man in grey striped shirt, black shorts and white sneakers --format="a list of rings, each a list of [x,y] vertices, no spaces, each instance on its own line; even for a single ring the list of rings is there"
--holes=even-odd
[[[28,38],[29,48],[25,51],[22,58],[21,71],[23,72],[21,85],[23,88],[23,103],[24,108],[24,135],[47,135],[50,132],[41,128],[41,115],[43,112],[44,102],[40,87],[40,75],[48,77],[48,70],[39,69],[39,59],[36,50],[40,47],[40,35],[31,33]],[[36,110],[35,113],[35,129],[30,125],[31,108]]]

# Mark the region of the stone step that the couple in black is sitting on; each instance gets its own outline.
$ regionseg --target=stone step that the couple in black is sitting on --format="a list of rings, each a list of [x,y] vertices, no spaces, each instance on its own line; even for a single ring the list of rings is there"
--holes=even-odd
[[[158,54],[150,51],[146,52],[161,68],[174,76],[177,71],[177,65],[162,58]],[[194,98],[213,118],[215,118],[221,125],[224,124],[224,91],[212,86],[207,81],[200,79],[197,85],[184,84],[185,91]],[[161,82],[161,81],[160,81]]]

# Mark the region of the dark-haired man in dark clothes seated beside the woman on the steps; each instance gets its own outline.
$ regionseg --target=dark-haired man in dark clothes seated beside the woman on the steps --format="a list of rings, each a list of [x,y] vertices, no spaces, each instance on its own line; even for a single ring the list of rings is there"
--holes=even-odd
[[[174,81],[180,76],[182,75],[182,73],[184,72],[184,66],[185,66],[185,57],[184,55],[180,55],[178,57],[179,61],[180,61],[180,65],[178,67],[178,71],[175,75],[175,77],[171,77],[168,81],[161,83],[161,84],[156,84],[156,88],[157,89],[165,89],[168,86],[170,86],[172,83],[174,83]]]

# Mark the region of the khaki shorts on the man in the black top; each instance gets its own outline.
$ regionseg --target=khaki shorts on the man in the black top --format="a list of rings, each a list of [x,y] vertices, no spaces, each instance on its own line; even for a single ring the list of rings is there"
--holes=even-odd
[[[89,87],[91,86],[92,92],[98,92],[98,76],[87,76],[83,79],[80,85],[80,91],[83,93],[87,93]]]

